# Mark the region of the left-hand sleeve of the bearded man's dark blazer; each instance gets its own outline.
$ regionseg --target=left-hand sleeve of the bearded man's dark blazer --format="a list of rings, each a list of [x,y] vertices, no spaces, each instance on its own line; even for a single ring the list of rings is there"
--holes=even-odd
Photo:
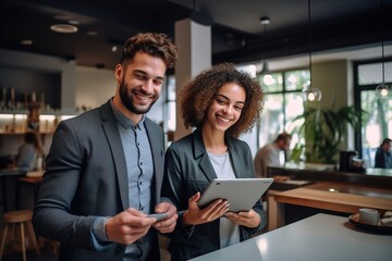
[[[71,214],[83,167],[83,156],[74,130],[61,122],[47,157],[33,224],[36,233],[68,245],[90,247],[94,216]]]

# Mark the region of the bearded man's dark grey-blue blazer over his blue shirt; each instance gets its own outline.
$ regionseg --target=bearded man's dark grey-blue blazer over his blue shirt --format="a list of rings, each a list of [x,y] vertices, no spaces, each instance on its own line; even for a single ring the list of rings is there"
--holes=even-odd
[[[154,159],[155,206],[160,200],[164,138],[156,123],[145,119],[145,126]],[[91,244],[96,216],[113,216],[128,208],[124,150],[110,102],[60,122],[46,164],[34,211],[37,234],[61,243],[59,260],[122,260],[124,245],[96,251]],[[159,260],[155,234],[154,261]]]

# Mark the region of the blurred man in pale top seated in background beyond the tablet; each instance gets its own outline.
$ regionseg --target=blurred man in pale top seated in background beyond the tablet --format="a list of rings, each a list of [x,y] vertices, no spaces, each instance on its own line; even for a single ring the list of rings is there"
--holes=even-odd
[[[280,152],[286,151],[290,147],[292,136],[287,133],[281,133],[277,139],[260,148],[255,157],[255,172],[257,177],[267,176],[267,166],[280,166]]]

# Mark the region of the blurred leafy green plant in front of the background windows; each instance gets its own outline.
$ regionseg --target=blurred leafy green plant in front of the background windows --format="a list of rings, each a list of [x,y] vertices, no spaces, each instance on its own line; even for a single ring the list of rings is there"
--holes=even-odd
[[[354,105],[339,110],[306,107],[304,113],[294,119],[303,122],[297,132],[305,138],[306,162],[336,164],[348,125],[359,127],[366,114]]]

